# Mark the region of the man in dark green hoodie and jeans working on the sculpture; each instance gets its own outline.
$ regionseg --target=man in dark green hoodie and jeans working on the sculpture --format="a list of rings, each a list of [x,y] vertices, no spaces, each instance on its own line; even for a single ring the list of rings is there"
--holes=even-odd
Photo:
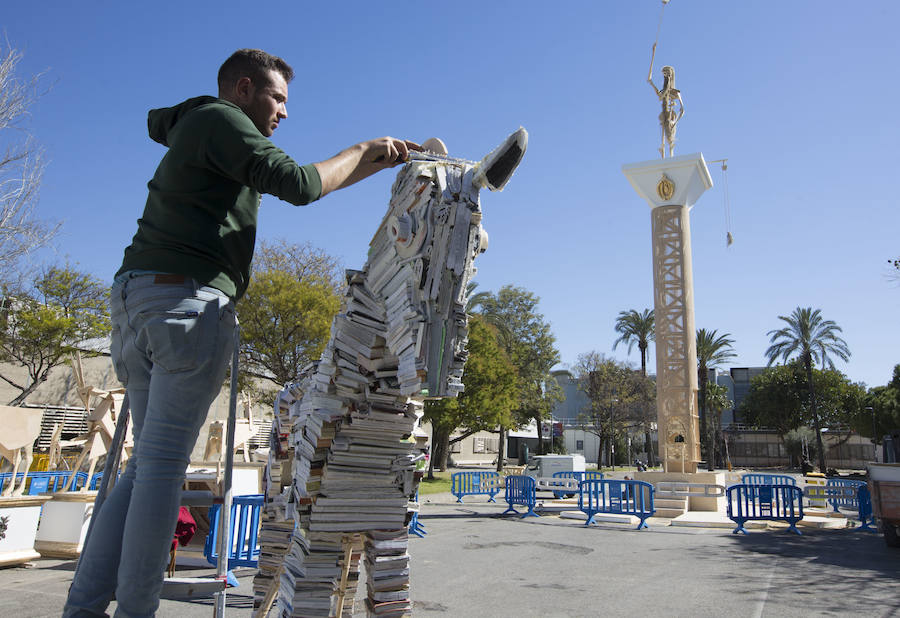
[[[268,138],[287,118],[293,70],[235,52],[219,96],[152,110],[168,147],[125,249],[110,300],[111,352],[128,391],[134,450],[98,513],[63,616],[153,616],[190,454],[233,350],[234,303],[247,289],[261,194],[308,204],[403,162],[413,142],[361,142],[298,165]]]

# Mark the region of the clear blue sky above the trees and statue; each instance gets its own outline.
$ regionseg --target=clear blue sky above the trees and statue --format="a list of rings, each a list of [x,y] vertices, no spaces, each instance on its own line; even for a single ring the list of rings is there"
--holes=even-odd
[[[652,307],[650,212],[621,166],[657,157],[646,82],[659,0],[619,2],[111,1],[11,3],[0,29],[22,73],[52,88],[31,133],[49,158],[39,213],[61,219],[55,259],[111,280],[163,148],[148,109],[215,94],[221,62],[260,47],[297,71],[273,137],[301,163],[364,139],[441,137],[480,159],[520,125],[529,150],[482,194],[480,290],[531,290],[565,365],[629,356],[618,313]],[[675,67],[676,154],[728,159],[691,215],[698,328],[730,333],[734,366],[765,364],[766,333],[798,306],[843,328],[838,368],[885,384],[900,362],[894,1],[672,0],[654,79]],[[362,266],[390,195],[385,172],[297,209],[263,200],[259,236],[309,241]],[[53,255],[45,256],[54,258]],[[654,367],[650,359],[650,367]]]

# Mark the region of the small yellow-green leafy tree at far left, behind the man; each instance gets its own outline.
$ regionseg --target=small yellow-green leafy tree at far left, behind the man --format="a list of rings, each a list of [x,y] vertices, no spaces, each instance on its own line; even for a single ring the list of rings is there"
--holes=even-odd
[[[108,300],[104,283],[68,265],[46,269],[30,292],[4,299],[0,361],[27,372],[24,382],[0,373],[20,391],[9,405],[22,404],[79,344],[109,333]]]

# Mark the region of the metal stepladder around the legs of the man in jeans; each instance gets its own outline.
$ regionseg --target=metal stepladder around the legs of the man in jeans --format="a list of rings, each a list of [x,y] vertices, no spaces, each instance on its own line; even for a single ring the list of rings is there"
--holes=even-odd
[[[232,470],[234,468],[234,431],[237,418],[237,374],[238,357],[240,355],[240,340],[240,326],[235,323],[234,352],[231,357],[231,389],[228,399],[228,425],[225,438],[225,470],[222,477],[222,494],[218,495],[212,491],[191,490],[184,491],[181,498],[182,506],[222,505],[219,511],[219,530],[216,538],[216,548],[219,554],[216,565],[216,576],[214,578],[167,577],[163,580],[163,589],[160,594],[160,598],[178,599],[203,598],[213,595],[215,597],[213,616],[216,618],[225,616],[225,589],[228,577],[228,556],[231,551],[231,481]],[[125,441],[125,432],[128,428],[129,416],[128,394],[126,393],[125,398],[122,401],[122,409],[119,413],[119,418],[116,421],[116,431],[113,434],[112,443],[107,451],[103,477],[97,488],[97,498],[94,501],[94,513],[100,511],[100,507],[103,505],[109,491],[113,488],[116,479],[118,478],[119,462],[122,458],[122,445]],[[93,528],[94,518],[91,517],[87,534],[85,535],[84,546],[87,546],[87,541],[91,536]]]

